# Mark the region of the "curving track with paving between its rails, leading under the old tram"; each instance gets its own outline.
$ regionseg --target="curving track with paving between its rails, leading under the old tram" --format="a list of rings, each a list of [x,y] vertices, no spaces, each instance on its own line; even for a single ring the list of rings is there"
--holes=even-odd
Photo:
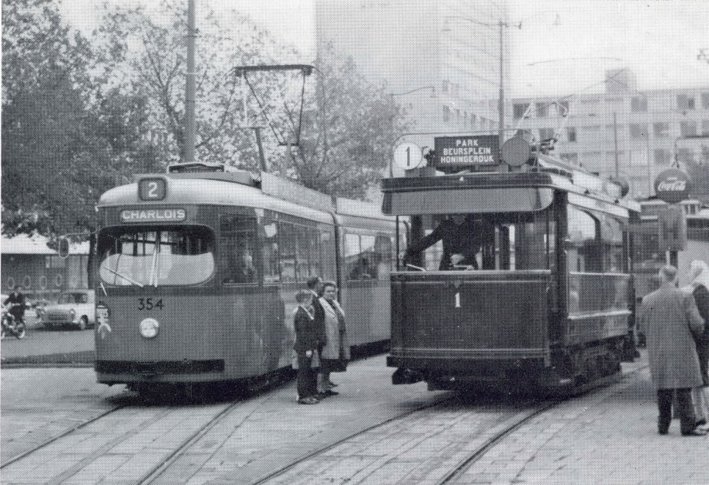
[[[526,401],[496,410],[490,409],[489,404],[480,407],[454,404],[455,399],[449,397],[353,433],[252,483],[456,484],[481,457],[525,424],[571,398],[599,387],[610,387],[622,379],[623,375],[609,376],[564,396],[528,397]],[[420,435],[409,433],[408,440],[406,432],[400,433],[417,428],[426,430],[427,421],[440,420],[441,415],[450,416],[444,420],[444,426],[430,426],[428,432]],[[396,433],[403,435],[401,439],[406,443],[395,438]],[[377,449],[381,450],[379,456],[373,451]]]

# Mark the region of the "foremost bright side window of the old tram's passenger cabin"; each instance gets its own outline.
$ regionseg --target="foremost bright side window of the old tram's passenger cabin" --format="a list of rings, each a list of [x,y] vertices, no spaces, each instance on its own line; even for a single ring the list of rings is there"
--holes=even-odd
[[[603,271],[603,251],[599,242],[600,222],[585,210],[569,205],[568,210],[567,265],[569,271],[579,273],[601,273]]]

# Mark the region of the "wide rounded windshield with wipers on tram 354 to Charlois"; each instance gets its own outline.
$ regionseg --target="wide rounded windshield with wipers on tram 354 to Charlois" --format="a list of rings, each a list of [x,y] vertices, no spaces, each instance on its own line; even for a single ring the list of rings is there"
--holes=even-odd
[[[98,251],[99,276],[108,285],[197,285],[214,273],[214,237],[206,227],[104,229]]]

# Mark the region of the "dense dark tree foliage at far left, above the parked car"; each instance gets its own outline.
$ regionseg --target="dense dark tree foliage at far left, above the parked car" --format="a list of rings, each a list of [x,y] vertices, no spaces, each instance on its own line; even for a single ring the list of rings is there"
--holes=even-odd
[[[105,62],[52,0],[3,3],[2,230],[90,232],[94,206],[143,140],[147,98],[104,89]]]

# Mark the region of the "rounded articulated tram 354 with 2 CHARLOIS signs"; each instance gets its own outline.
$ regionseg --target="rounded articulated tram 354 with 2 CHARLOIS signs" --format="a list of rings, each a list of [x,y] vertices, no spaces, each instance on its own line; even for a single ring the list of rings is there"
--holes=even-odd
[[[295,293],[313,275],[338,284],[353,350],[389,341],[400,242],[376,205],[196,163],[137,176],[97,210],[98,382],[147,391],[289,367]]]

